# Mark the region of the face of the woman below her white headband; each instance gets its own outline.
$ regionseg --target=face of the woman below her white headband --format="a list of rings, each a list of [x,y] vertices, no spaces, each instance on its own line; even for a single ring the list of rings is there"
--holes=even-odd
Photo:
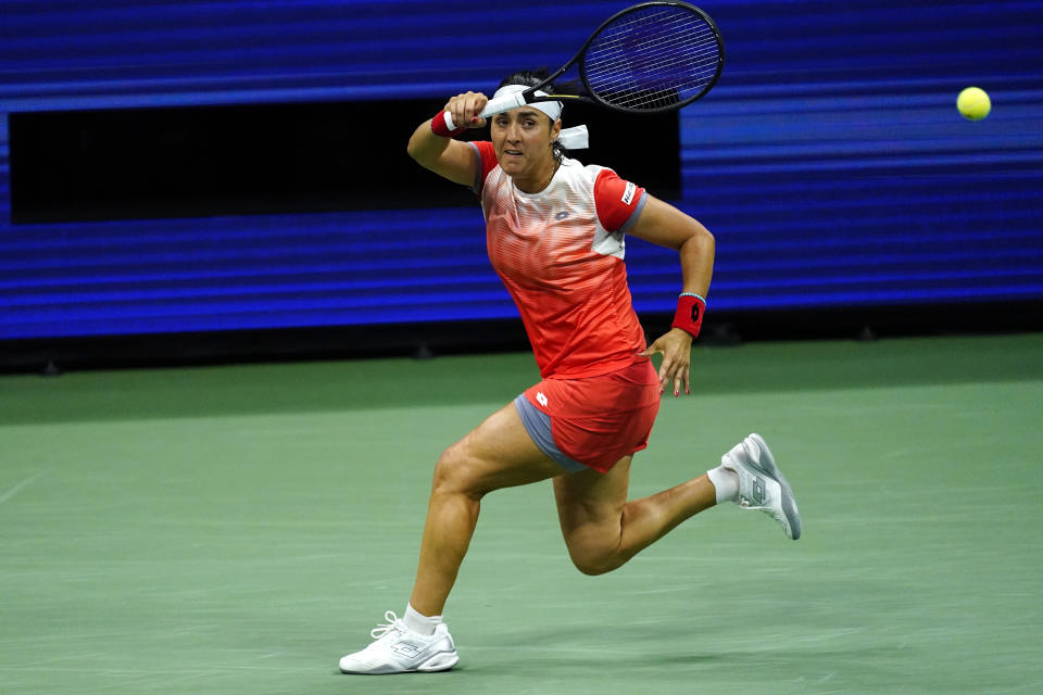
[[[545,177],[554,165],[551,143],[561,129],[561,121],[551,124],[550,116],[527,106],[494,115],[490,132],[504,173],[522,179]]]

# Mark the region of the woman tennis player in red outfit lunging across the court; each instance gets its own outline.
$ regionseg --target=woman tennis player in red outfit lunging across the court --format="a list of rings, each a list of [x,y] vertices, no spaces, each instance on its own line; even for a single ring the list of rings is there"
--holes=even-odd
[[[494,97],[538,85],[517,73]],[[486,126],[485,94],[449,100],[454,124]],[[542,381],[493,413],[435,467],[419,567],[403,618],[387,611],[374,642],[340,660],[344,673],[443,671],[458,661],[442,609],[482,497],[552,479],[569,556],[587,574],[625,564],[689,517],[722,502],[771,515],[797,539],[792,491],[767,444],[751,434],[716,468],[676,488],[627,500],[630,463],[645,447],[661,394],[689,392],[714,264],[714,238],[695,219],[601,166],[565,155],[585,129],[563,132],[560,102],[490,118],[491,141],[462,142],[443,113],[424,122],[410,154],[481,197],[492,266],[514,298]],[[630,302],[625,236],[677,250],[682,287],[673,328],[651,345]],[[663,355],[656,371],[650,355]]]

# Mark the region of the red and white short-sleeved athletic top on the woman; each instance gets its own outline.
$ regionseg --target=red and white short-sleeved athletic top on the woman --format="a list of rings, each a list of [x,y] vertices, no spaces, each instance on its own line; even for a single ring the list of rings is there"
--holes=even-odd
[[[518,306],[540,375],[577,379],[632,364],[645,341],[624,232],[640,216],[644,189],[566,157],[545,189],[525,193],[491,142],[472,147],[489,260]]]

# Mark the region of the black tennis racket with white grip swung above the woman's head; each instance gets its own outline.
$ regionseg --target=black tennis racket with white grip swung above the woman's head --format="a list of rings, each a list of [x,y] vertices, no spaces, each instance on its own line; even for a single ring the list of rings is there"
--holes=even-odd
[[[573,65],[586,93],[536,94]],[[686,2],[642,2],[605,20],[556,73],[536,87],[490,100],[480,116],[540,101],[581,101],[626,113],[675,111],[704,97],[724,66],[725,41],[708,14]],[[453,130],[451,121],[447,112]]]

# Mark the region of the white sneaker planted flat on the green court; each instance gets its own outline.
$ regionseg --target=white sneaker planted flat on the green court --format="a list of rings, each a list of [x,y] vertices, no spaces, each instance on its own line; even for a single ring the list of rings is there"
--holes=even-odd
[[[378,623],[369,635],[376,640],[362,652],[340,660],[344,673],[411,673],[413,671],[448,671],[460,656],[445,623],[439,623],[428,636],[405,627],[393,610],[384,614],[389,624]]]

